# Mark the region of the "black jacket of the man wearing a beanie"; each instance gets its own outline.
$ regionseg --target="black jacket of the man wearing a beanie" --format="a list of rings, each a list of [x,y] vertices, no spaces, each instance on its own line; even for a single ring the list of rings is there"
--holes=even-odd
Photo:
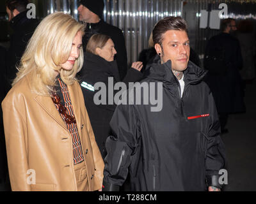
[[[124,34],[122,31],[113,25],[107,24],[104,20],[100,20],[97,24],[86,25],[85,34],[83,36],[83,49],[86,52],[86,45],[93,34],[105,34],[113,40],[117,54],[115,60],[118,66],[120,79],[122,80],[127,73],[127,52],[125,48]]]

